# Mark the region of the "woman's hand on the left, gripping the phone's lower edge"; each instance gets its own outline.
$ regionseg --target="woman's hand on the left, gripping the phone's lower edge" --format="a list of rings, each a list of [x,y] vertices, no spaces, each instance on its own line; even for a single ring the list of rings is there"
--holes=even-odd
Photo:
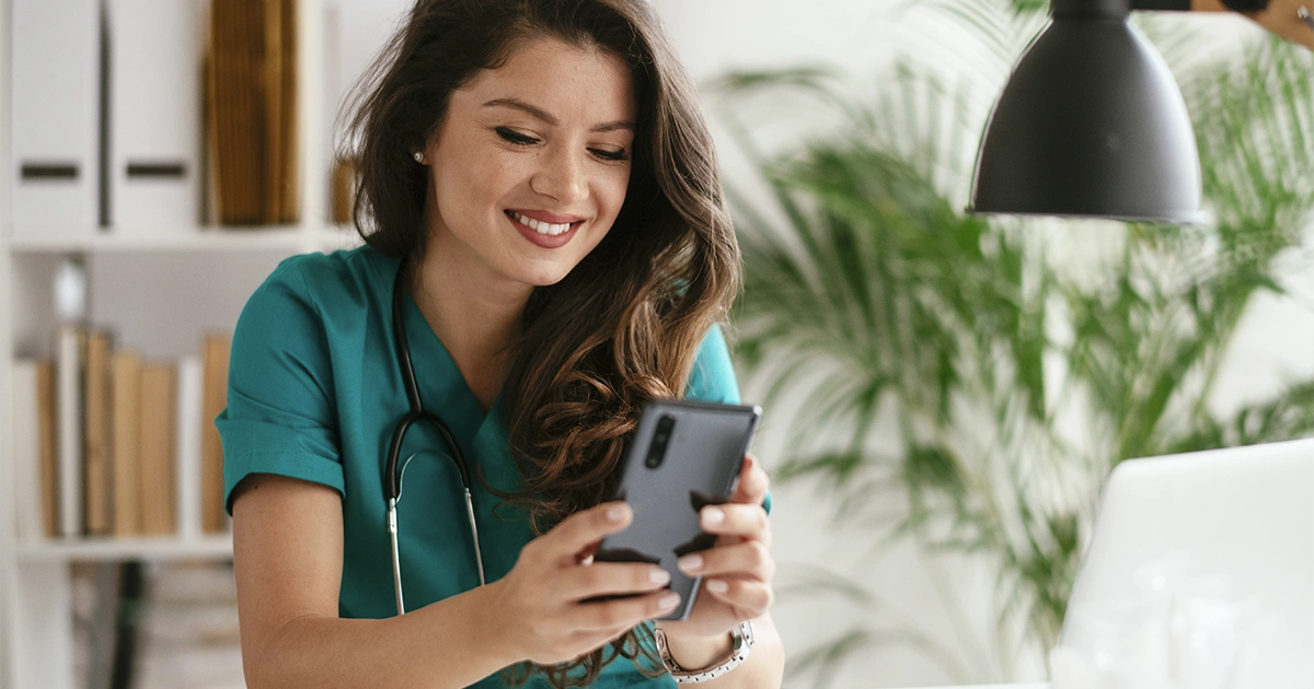
[[[629,526],[625,503],[603,503],[566,517],[520,550],[495,587],[498,638],[518,658],[540,665],[568,663],[669,613],[679,595],[665,591],[670,575],[656,564],[593,562],[603,537]],[[590,601],[598,596],[633,596]]]

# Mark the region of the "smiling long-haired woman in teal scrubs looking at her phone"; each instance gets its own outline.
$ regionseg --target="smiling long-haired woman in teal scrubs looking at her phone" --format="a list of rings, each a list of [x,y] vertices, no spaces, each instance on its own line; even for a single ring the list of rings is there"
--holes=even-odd
[[[284,261],[234,336],[217,423],[248,685],[779,686],[750,457],[700,514],[717,545],[681,560],[704,577],[689,619],[650,622],[678,602],[661,568],[590,556],[631,518],[599,501],[640,406],[738,396],[715,325],[738,252],[648,7],[420,0],[369,84],[365,247]],[[392,550],[399,344],[451,438],[417,423],[397,448]]]

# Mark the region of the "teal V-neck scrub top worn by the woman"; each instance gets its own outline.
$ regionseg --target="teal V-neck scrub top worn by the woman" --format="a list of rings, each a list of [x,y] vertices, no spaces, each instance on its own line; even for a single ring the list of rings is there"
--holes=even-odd
[[[393,281],[399,261],[365,245],[283,261],[247,302],[233,337],[223,440],[225,501],[250,474],[279,474],[342,493],[344,549],[339,614],[396,614],[382,469],[397,423],[409,411],[392,337]],[[509,451],[501,403],[485,415],[415,302],[403,297],[406,337],[424,408],[449,428],[470,463],[472,493],[487,581],[505,576],[532,538],[527,521],[499,516],[499,500],[478,480],[510,491],[520,470]],[[738,403],[738,386],[719,328],[698,350],[689,399]],[[407,462],[407,458],[410,459]],[[443,441],[415,424],[402,445],[397,503],[406,609],[478,585],[460,475]],[[531,681],[528,686],[547,686]],[[476,684],[501,688],[494,675]],[[674,686],[616,659],[598,688]]]

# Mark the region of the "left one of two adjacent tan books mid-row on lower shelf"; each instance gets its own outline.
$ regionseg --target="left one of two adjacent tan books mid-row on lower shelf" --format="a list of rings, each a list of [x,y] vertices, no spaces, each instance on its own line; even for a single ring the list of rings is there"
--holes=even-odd
[[[113,407],[114,535],[142,533],[142,358],[116,352],[110,360]]]

